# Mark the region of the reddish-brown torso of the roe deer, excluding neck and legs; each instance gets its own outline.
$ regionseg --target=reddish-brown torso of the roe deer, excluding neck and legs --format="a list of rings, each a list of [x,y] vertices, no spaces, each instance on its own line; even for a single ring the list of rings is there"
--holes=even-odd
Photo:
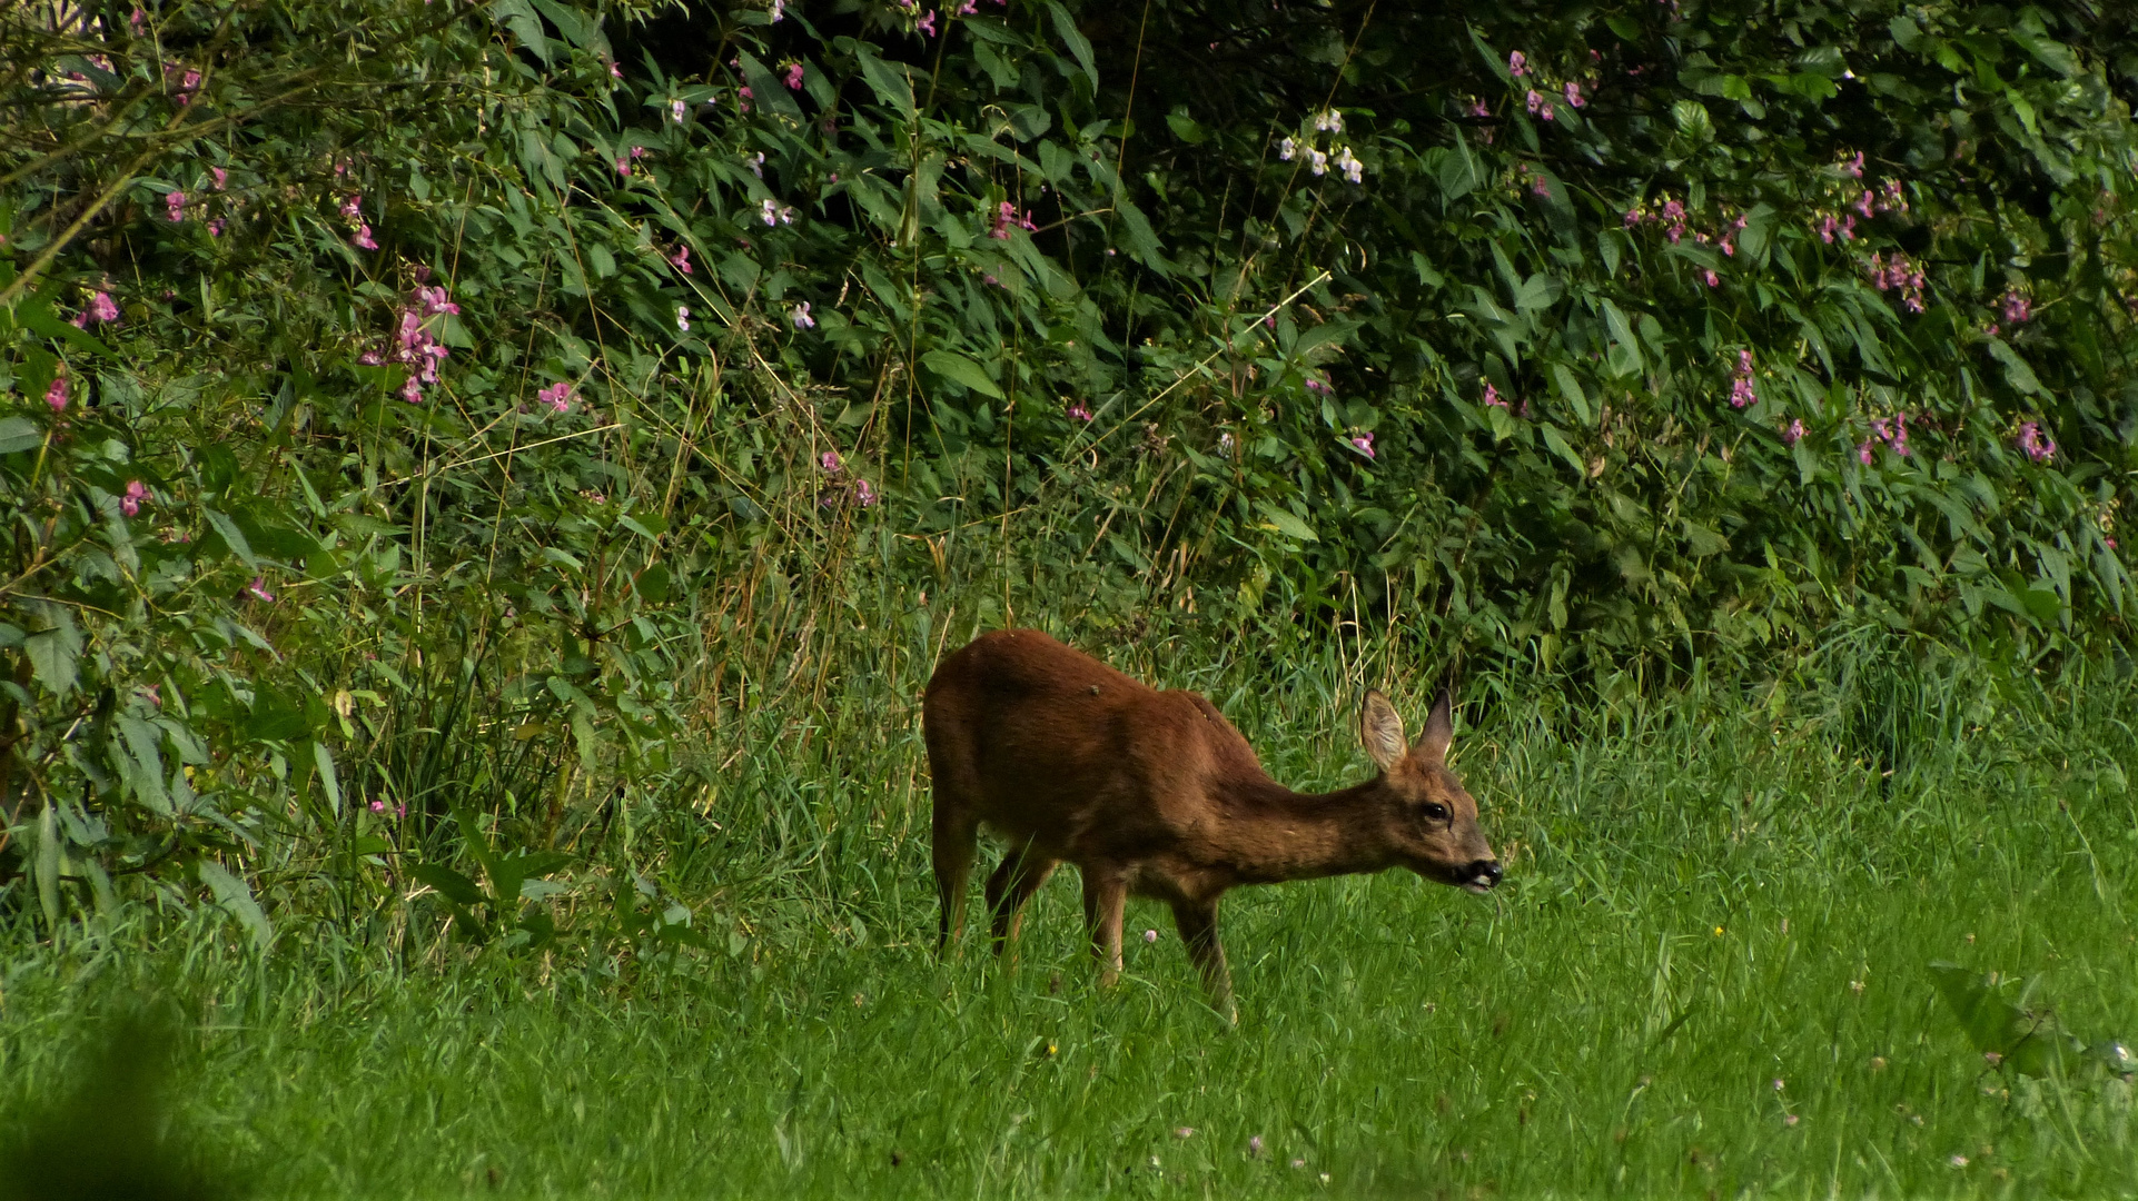
[[[1266,780],[1204,697],[1148,688],[1039,630],[945,658],[921,720],[936,806],[1073,863],[1167,855],[1223,818],[1227,780]]]

